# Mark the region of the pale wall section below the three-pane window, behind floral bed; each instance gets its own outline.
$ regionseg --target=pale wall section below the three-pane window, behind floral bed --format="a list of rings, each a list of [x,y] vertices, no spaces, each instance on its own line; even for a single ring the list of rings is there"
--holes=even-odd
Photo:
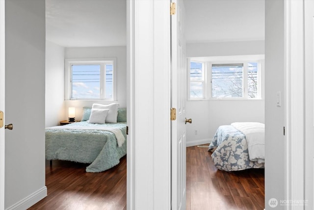
[[[187,101],[187,146],[209,143],[220,125],[236,121],[264,122],[263,100]],[[197,134],[195,134],[197,130]]]

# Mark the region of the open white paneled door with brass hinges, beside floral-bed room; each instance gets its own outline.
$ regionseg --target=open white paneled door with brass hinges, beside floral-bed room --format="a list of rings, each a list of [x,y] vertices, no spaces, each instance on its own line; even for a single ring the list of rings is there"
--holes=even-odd
[[[176,14],[171,16],[171,67],[172,94],[171,107],[177,109],[177,120],[172,126],[172,210],[185,209],[186,205],[186,58],[184,30],[184,5],[182,0],[176,3]]]

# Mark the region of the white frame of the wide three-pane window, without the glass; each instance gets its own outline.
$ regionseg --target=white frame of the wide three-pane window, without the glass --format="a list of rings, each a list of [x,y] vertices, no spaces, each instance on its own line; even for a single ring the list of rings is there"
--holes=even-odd
[[[203,98],[199,97],[190,97],[190,71],[188,71],[188,88],[187,88],[187,97],[190,101],[196,101],[196,100],[262,100],[262,60],[261,59],[250,59],[249,56],[247,59],[241,59],[241,60],[215,60],[215,61],[208,61],[206,59],[202,58],[188,58],[188,69],[190,69],[190,61],[193,62],[202,62],[204,63],[204,73],[205,73],[205,84],[203,87]],[[256,62],[258,63],[258,84],[257,84],[257,97],[250,98],[248,97],[248,63],[250,62]],[[234,64],[234,63],[243,63],[243,75],[242,75],[242,91],[243,91],[243,97],[212,97],[212,64]]]

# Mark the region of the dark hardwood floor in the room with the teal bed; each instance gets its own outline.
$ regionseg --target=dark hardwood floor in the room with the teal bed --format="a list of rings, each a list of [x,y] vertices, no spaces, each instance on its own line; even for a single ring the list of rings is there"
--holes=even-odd
[[[48,196],[29,210],[126,210],[127,158],[101,173],[86,173],[88,164],[46,161]]]

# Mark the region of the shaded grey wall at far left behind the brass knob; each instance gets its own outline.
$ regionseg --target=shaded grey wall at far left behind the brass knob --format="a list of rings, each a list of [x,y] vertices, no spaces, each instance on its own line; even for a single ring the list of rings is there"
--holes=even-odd
[[[25,210],[47,195],[45,0],[5,1],[5,91],[5,209]]]

